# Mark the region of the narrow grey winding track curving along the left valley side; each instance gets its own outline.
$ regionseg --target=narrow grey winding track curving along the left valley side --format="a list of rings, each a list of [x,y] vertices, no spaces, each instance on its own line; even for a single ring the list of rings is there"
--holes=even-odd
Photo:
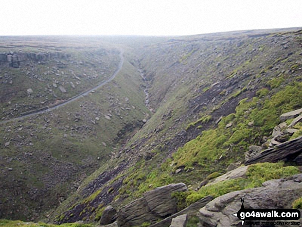
[[[120,69],[121,69],[121,67],[122,67],[122,65],[123,65],[123,62],[124,62],[123,51],[122,51],[122,50],[120,51],[119,56],[120,56],[120,61],[119,61],[119,63],[118,63],[118,67],[117,67],[116,71],[111,75],[111,77],[109,77],[109,78],[106,79],[105,81],[101,82],[100,84],[98,84],[98,85],[95,86],[94,88],[92,88],[92,89],[90,89],[90,90],[87,90],[87,91],[85,91],[85,92],[82,92],[82,93],[80,93],[80,94],[78,94],[78,95],[76,95],[76,96],[74,96],[74,97],[72,97],[72,98],[69,98],[68,100],[65,100],[65,101],[63,101],[63,102],[60,102],[60,103],[56,104],[55,106],[52,106],[52,107],[45,107],[45,108],[42,108],[42,109],[40,109],[40,110],[36,110],[36,111],[34,111],[34,112],[25,113],[24,115],[19,116],[19,117],[15,117],[15,118],[11,118],[11,119],[8,119],[8,120],[0,121],[0,125],[1,125],[1,124],[5,124],[5,123],[8,123],[8,122],[10,122],[10,121],[21,120],[21,119],[23,119],[23,118],[25,118],[25,117],[34,116],[34,115],[38,115],[38,114],[42,114],[42,113],[46,113],[46,112],[55,110],[55,109],[57,109],[57,108],[59,108],[59,107],[62,107],[62,106],[64,106],[64,105],[66,105],[66,104],[69,103],[69,102],[73,102],[73,101],[75,101],[75,100],[77,100],[77,99],[79,99],[79,98],[81,98],[81,97],[83,97],[83,96],[89,94],[89,93],[92,92],[92,91],[95,91],[95,90],[98,89],[98,88],[101,88],[101,86],[103,86],[104,84],[109,83],[110,81],[112,81],[112,80],[115,78],[115,76],[119,73],[119,71],[120,71]]]

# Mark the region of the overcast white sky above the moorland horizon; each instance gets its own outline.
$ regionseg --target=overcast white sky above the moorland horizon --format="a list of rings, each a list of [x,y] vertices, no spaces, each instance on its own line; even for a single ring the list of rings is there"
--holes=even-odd
[[[301,26],[301,0],[0,0],[0,36],[170,36]]]

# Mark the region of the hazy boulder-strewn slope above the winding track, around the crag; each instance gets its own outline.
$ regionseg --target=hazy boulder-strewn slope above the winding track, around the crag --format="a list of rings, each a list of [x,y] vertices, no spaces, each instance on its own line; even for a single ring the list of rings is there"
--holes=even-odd
[[[51,106],[93,88],[111,75],[119,62],[118,50],[101,40],[81,42],[81,38],[68,41],[43,37],[37,42],[26,42],[26,38],[21,38],[8,43],[3,39],[0,39],[0,51],[4,53],[50,52],[68,57],[51,57],[41,62],[22,60],[20,68],[8,67],[8,63],[3,63],[0,73],[2,119]],[[62,64],[65,65],[61,67]],[[59,86],[63,86],[67,93],[62,93]],[[28,95],[27,89],[32,89],[33,93]]]

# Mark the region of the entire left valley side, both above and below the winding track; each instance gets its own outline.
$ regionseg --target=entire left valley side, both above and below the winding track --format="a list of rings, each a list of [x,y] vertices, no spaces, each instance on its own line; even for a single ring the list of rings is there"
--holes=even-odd
[[[121,61],[120,48],[110,47],[100,40],[83,42],[78,38],[69,44],[68,39],[53,38],[49,44],[47,38],[37,39],[39,51],[42,49],[45,53],[66,46],[61,51],[69,56],[69,60],[66,60],[65,68],[56,69],[60,75],[51,71],[56,67],[52,65],[61,61],[57,58],[45,59],[43,63],[25,59],[16,68],[7,62],[1,65],[1,72],[13,81],[6,83],[8,80],[3,76],[1,83],[5,87],[1,90],[3,93],[11,92],[1,96],[5,116],[0,125],[1,217],[32,220],[60,204],[83,179],[118,153],[123,140],[144,124],[143,119],[149,113],[140,88],[142,78],[128,60],[123,59],[122,69],[114,80],[101,88],[57,109],[7,122],[8,118],[37,112],[45,105],[54,106],[94,88],[110,78]],[[12,44],[21,48],[20,53],[33,51],[26,45],[22,49],[20,42],[25,41],[17,40]],[[8,50],[11,48],[7,46]],[[103,54],[93,58],[100,50]],[[74,65],[80,70],[77,73]],[[24,73],[27,67],[34,72],[41,71],[41,78]],[[74,90],[70,87],[72,81],[76,85]],[[66,93],[59,90],[61,85]],[[32,94],[24,95],[27,89],[32,89]],[[40,103],[41,97],[48,97],[48,101]],[[32,108],[28,109],[29,106]]]

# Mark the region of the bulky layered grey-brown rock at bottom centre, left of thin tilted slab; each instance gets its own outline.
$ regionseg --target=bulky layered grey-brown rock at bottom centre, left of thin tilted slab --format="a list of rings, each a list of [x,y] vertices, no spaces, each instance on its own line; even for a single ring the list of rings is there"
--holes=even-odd
[[[178,183],[148,191],[142,198],[134,200],[120,209],[117,218],[119,226],[128,227],[144,222],[155,222],[159,218],[176,213],[176,200],[171,199],[171,194],[174,191],[186,190],[188,188],[184,183]]]

